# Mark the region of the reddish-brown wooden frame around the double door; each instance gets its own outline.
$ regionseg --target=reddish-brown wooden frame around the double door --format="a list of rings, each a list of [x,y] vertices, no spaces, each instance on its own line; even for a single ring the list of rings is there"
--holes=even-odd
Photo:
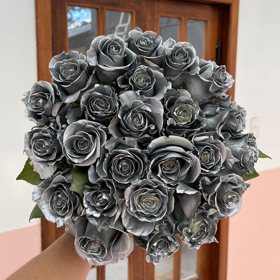
[[[51,2],[54,0],[35,0],[36,9],[36,38],[37,38],[37,71],[38,80],[51,81],[51,75],[49,72],[49,61],[53,57],[53,31],[52,28],[52,5]],[[71,1],[71,0],[70,0]],[[70,2],[69,1],[69,2]],[[141,1],[141,0],[139,0]],[[173,0],[170,0],[173,1]],[[178,0],[177,0],[178,1]],[[239,0],[180,0],[181,2],[193,2],[201,4],[218,5],[220,9],[219,25],[218,28],[218,40],[221,42],[221,55],[220,63],[227,66],[227,71],[235,78],[236,72],[236,49],[237,49],[237,30],[238,30],[238,10]],[[228,94],[234,99],[234,84],[229,89]],[[218,259],[203,260],[203,263],[208,265],[204,266],[201,274],[205,276],[205,279],[227,279],[227,252],[228,252],[228,228],[229,218],[225,218],[219,221],[218,230],[216,233],[219,244],[204,244],[199,253],[202,254],[207,250],[218,251]],[[45,234],[48,232],[48,234]],[[56,228],[51,222],[46,219],[41,219],[41,237],[42,237],[42,250],[46,249],[51,243],[53,243],[62,233],[64,229]],[[140,250],[137,247],[135,250]],[[141,262],[141,260],[140,260]],[[212,269],[212,265],[218,266],[218,271]],[[149,273],[152,269],[144,260],[142,260],[145,273]],[[215,266],[215,267],[217,267]],[[144,267],[143,267],[144,268]],[[135,267],[136,269],[136,267]],[[104,268],[98,267],[98,275],[102,275]],[[135,273],[132,270],[128,272],[130,275]],[[209,277],[207,277],[207,275]],[[213,278],[216,275],[216,278]]]

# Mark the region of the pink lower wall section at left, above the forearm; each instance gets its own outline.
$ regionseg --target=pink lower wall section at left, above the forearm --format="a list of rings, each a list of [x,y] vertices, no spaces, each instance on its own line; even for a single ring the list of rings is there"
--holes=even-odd
[[[0,233],[0,251],[0,280],[4,280],[41,252],[41,226]]]

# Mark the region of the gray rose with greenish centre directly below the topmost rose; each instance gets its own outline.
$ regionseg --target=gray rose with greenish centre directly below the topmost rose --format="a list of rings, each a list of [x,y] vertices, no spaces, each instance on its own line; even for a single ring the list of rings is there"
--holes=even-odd
[[[133,90],[136,94],[146,97],[154,97],[158,100],[163,98],[163,94],[171,88],[171,83],[166,81],[164,75],[150,67],[140,65],[132,72],[117,79],[121,92]]]

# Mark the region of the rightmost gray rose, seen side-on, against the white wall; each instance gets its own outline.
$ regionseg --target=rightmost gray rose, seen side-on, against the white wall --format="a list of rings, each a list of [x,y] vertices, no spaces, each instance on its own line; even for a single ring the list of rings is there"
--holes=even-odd
[[[229,138],[224,141],[225,146],[231,149],[233,157],[239,161],[239,165],[246,173],[254,172],[254,165],[259,157],[256,138],[252,133]]]

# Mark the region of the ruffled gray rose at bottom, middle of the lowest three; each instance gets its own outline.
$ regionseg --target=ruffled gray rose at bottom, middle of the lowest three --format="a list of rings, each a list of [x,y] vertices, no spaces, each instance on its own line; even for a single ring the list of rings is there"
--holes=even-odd
[[[142,240],[138,246],[146,250],[147,262],[158,264],[161,259],[170,257],[179,250],[179,242],[174,234],[175,225],[169,220],[165,220],[157,225],[157,232],[147,236],[147,240]]]

